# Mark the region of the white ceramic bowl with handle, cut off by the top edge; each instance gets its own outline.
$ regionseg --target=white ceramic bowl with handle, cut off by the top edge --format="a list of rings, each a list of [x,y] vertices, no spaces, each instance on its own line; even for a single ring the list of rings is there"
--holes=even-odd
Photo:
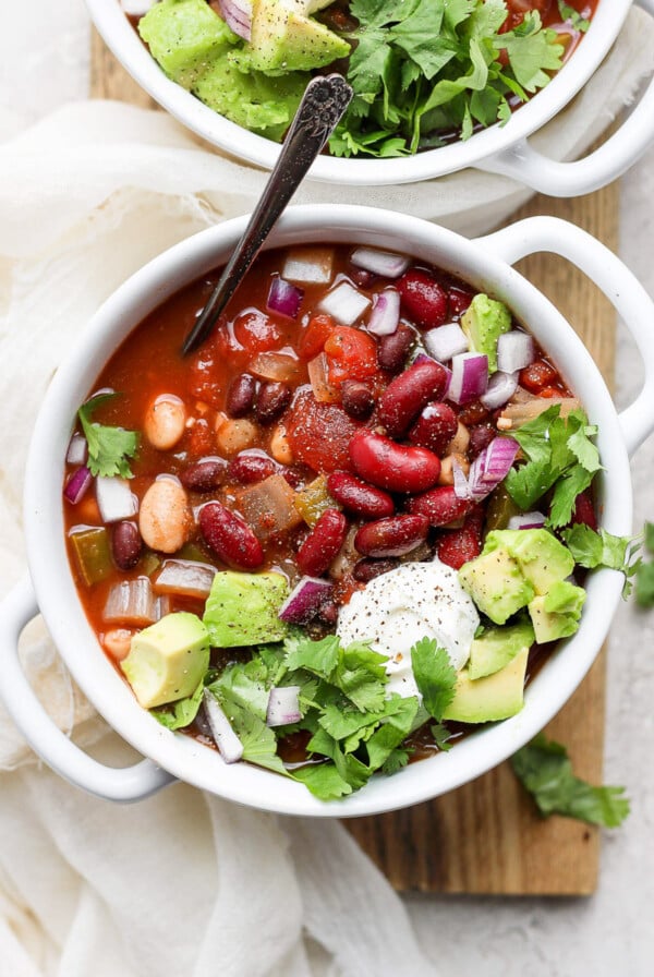
[[[311,179],[372,186],[411,183],[476,167],[553,196],[577,196],[605,186],[635,162],[654,138],[654,80],[619,131],[583,160],[552,160],[533,149],[528,136],[560,112],[585,85],[615,43],[632,2],[654,16],[654,0],[600,0],[591,28],[572,58],[546,88],[513,113],[507,125],[493,125],[465,143],[411,157],[322,156],[311,169]],[[279,145],[229,122],[167,79],[133,31],[119,0],[86,0],[86,5],[108,47],[162,108],[214,146],[265,169],[272,168]]]

